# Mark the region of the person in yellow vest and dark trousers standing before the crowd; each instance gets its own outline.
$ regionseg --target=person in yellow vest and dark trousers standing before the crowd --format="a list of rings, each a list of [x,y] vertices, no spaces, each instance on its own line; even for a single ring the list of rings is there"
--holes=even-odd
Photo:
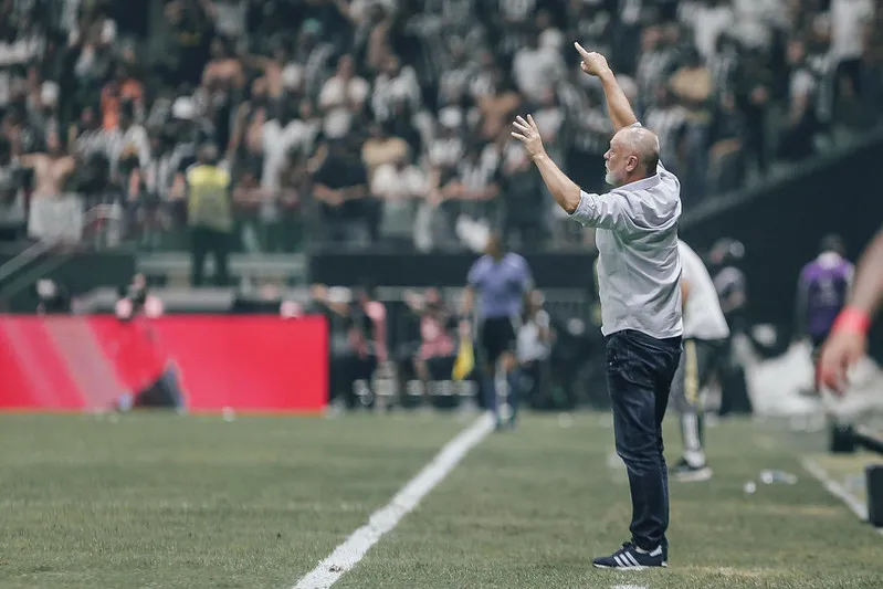
[[[218,148],[206,145],[187,175],[187,223],[190,227],[190,284],[201,286],[206,256],[214,255],[214,284],[229,283],[228,255],[233,231],[230,172],[218,166]]]

